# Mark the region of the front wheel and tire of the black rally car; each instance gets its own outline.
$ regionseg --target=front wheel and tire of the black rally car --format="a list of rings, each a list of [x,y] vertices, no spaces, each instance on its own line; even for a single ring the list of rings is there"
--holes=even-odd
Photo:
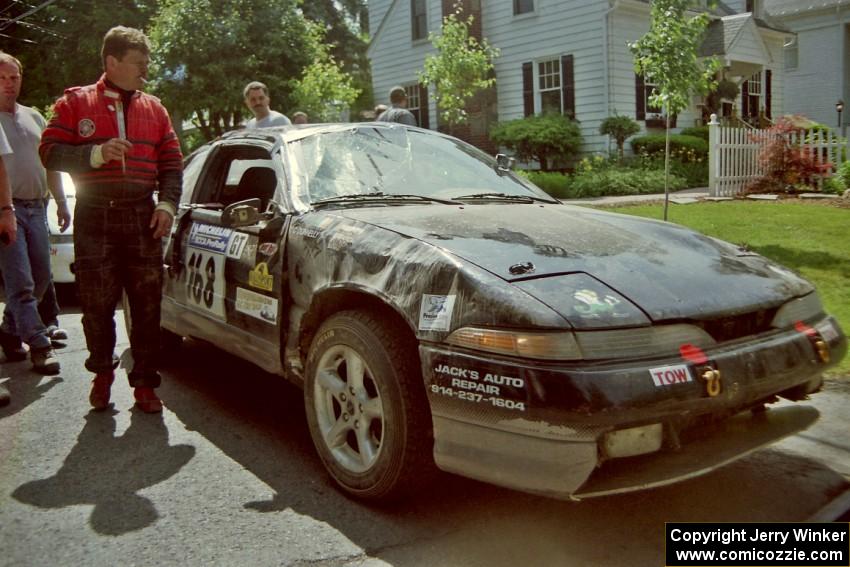
[[[416,344],[360,311],[331,316],[307,358],[313,444],[349,494],[391,500],[433,470],[433,431]]]

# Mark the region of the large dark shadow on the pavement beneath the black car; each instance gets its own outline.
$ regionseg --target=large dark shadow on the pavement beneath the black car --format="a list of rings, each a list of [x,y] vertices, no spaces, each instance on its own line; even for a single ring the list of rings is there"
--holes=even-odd
[[[245,508],[325,521],[396,567],[658,564],[664,522],[803,521],[847,486],[817,461],[763,450],[692,481],[578,503],[442,475],[401,505],[369,506],[326,475],[297,387],[197,341],[163,376],[166,407],[274,491]]]

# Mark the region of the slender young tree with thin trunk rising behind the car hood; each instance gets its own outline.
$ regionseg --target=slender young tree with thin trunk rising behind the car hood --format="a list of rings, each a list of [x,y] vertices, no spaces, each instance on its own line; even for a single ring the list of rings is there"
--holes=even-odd
[[[649,97],[667,114],[667,144],[664,157],[664,220],[667,220],[670,171],[670,117],[688,108],[695,93],[705,94],[716,85],[720,62],[700,61],[698,49],[708,26],[708,14],[687,18],[693,0],[652,0],[649,31],[629,48],[635,56],[635,71],[651,77],[655,91]]]

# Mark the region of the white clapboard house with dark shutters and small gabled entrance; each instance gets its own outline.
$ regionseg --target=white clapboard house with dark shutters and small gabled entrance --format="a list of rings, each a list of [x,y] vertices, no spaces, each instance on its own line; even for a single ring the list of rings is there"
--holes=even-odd
[[[437,128],[434,101],[418,86],[425,57],[433,52],[428,32],[439,32],[453,0],[370,0],[373,37],[368,55],[376,102],[387,102],[394,85],[411,96],[420,125]],[[703,1],[703,5],[705,2]],[[612,143],[598,133],[610,114],[660,127],[660,111],[646,101],[651,81],[635,75],[628,42],[649,30],[648,0],[464,0],[475,17],[473,33],[501,50],[495,61],[496,87],[472,109],[467,135],[473,143],[495,120],[544,110],[574,116],[581,123],[584,151],[607,152]],[[744,85],[726,111],[766,116],[783,112],[783,45],[792,37],[764,20],[760,0],[719,2],[711,12],[705,54],[723,61],[725,76]],[[678,116],[677,126],[701,118],[701,99]]]

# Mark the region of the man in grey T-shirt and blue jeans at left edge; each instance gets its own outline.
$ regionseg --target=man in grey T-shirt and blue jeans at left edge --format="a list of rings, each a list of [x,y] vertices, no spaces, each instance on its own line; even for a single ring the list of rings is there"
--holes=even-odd
[[[23,339],[30,347],[33,370],[58,374],[59,361],[38,312],[38,304],[52,281],[46,216],[48,190],[56,199],[60,230],[70,226],[71,213],[59,173],[45,171],[39,160],[44,117],[17,102],[22,80],[20,61],[0,52],[0,126],[13,152],[7,156],[6,168],[20,229],[14,245],[0,248],[0,271],[6,288],[0,346],[6,360],[24,360]]]

